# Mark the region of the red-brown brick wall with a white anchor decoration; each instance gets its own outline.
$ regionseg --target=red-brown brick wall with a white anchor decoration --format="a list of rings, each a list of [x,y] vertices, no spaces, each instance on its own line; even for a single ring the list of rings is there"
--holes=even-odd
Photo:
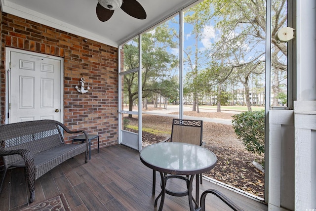
[[[118,141],[118,48],[7,13],[1,15],[0,123],[5,114],[5,47],[64,58],[64,124],[100,135],[100,147]],[[2,53],[1,53],[2,52]],[[83,77],[89,92],[76,85]],[[71,137],[66,137],[71,141]],[[92,148],[97,147],[94,142]]]

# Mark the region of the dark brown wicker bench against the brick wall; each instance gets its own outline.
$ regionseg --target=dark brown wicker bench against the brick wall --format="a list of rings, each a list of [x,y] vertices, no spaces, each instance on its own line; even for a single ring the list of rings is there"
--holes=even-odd
[[[86,141],[80,144],[65,144],[62,130],[68,133],[84,133]],[[5,173],[11,167],[25,168],[25,177],[31,193],[30,203],[35,200],[35,180],[50,169],[83,152],[87,163],[88,145],[85,131],[71,131],[54,120],[0,126],[0,156]]]

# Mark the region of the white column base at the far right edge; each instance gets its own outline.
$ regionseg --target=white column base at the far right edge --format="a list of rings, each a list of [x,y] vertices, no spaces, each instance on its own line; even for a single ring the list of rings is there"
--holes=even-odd
[[[294,101],[295,210],[316,210],[316,101]]]

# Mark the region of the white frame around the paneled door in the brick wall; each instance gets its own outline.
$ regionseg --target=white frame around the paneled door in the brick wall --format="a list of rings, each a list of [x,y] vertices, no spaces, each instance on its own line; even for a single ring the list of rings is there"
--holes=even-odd
[[[40,57],[46,57],[51,59],[60,60],[60,122],[64,123],[64,58],[57,57],[57,56],[51,56],[43,53],[37,53],[27,50],[21,50],[16,49],[12,47],[6,47],[5,48],[5,74],[6,74],[6,80],[5,80],[5,119],[4,124],[8,124],[8,111],[9,111],[9,77],[10,76],[10,61],[11,61],[11,52],[18,52],[23,54],[32,54],[34,56],[40,56]]]

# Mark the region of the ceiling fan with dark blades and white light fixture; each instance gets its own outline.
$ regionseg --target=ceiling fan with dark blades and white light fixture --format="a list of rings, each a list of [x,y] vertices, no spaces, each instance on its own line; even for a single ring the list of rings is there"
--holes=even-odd
[[[137,0],[98,0],[96,13],[99,20],[102,22],[109,20],[114,10],[119,7],[134,18],[147,17],[145,9]]]

